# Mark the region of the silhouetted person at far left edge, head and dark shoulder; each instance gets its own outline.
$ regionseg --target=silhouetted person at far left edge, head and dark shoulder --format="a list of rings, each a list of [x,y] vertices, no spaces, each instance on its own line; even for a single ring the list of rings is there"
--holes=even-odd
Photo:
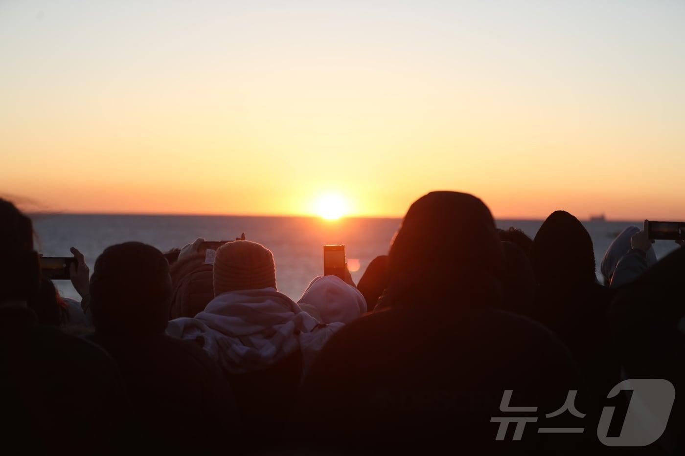
[[[0,199],[1,454],[121,454],[132,444],[119,371],[90,342],[41,327],[31,220]]]

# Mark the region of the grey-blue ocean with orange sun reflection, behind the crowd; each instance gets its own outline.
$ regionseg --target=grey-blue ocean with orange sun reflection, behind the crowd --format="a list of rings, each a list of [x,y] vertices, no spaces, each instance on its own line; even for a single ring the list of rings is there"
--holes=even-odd
[[[162,252],[182,247],[195,238],[227,240],[240,236],[260,242],[273,252],[277,287],[292,299],[323,273],[323,244],[345,244],[352,277],[358,281],[369,262],[388,252],[399,218],[342,218],[255,216],[158,216],[99,214],[34,214],[36,249],[45,256],[71,256],[69,247],[82,251],[92,271],[95,259],[107,246],[136,240]],[[517,227],[534,237],[543,220],[497,220],[500,228]],[[593,239],[597,273],[599,262],[613,238],[628,225],[641,222],[588,221]],[[563,240],[560,240],[563,242]],[[672,241],[657,241],[658,257],[675,249]],[[77,299],[69,281],[55,281],[62,296]]]

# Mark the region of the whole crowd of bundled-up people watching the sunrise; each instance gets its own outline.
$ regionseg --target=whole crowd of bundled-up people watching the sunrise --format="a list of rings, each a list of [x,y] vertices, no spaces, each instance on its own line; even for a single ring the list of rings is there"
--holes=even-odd
[[[210,264],[201,238],[116,244],[92,274],[73,249],[75,302],[40,276],[34,237],[0,199],[3,454],[685,451],[677,394],[648,446],[598,439],[607,406],[612,435],[632,407],[614,385],[685,381],[685,249],[657,261],[637,227],[599,283],[568,212],[531,239],[431,192],[358,284],[315,277],[297,302],[268,246],[228,242]]]

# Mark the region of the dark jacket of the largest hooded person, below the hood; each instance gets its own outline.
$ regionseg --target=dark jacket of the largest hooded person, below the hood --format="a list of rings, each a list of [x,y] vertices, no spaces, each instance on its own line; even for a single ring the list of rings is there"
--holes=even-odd
[[[487,306],[458,314],[390,309],[352,322],[325,346],[303,384],[292,428],[308,440],[299,446],[523,453],[543,444],[538,427],[563,427],[543,413],[582,388],[568,351],[532,320]],[[505,390],[513,390],[512,406],[539,407],[538,414],[500,411]],[[506,442],[496,442],[490,418],[514,415],[540,422],[529,425],[523,442],[511,442],[512,428]],[[551,448],[565,444],[564,436],[554,438]]]

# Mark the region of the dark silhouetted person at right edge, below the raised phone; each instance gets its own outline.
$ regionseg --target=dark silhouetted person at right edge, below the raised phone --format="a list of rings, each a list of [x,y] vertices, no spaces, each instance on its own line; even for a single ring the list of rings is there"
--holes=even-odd
[[[685,452],[684,277],[685,249],[677,249],[619,289],[612,302],[610,320],[623,376],[667,379],[675,387],[675,403],[666,431],[639,454]],[[642,413],[640,418],[650,417]]]

